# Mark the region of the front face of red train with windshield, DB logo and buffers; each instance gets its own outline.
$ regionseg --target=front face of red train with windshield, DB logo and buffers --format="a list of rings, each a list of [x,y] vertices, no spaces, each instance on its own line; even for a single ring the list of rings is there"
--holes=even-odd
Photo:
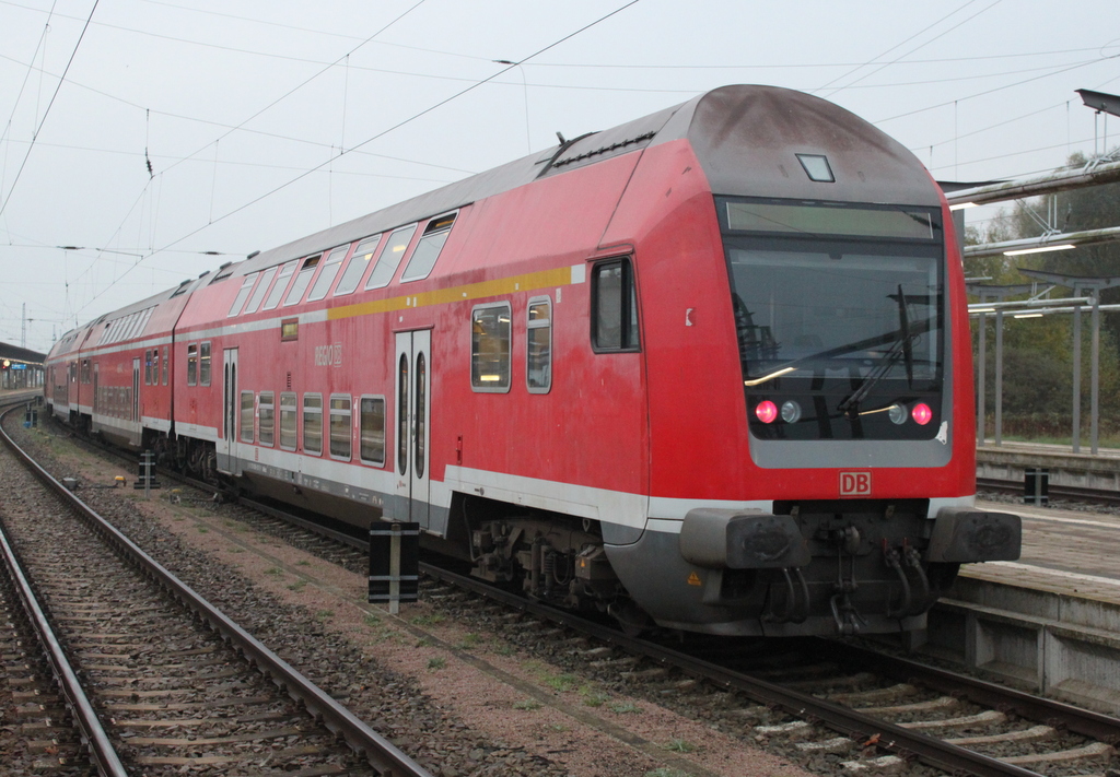
[[[749,457],[727,500],[661,540],[676,584],[635,599],[717,634],[921,629],[960,564],[1020,545],[1018,516],[972,506],[968,320],[942,212],[716,204],[746,427],[725,433]]]

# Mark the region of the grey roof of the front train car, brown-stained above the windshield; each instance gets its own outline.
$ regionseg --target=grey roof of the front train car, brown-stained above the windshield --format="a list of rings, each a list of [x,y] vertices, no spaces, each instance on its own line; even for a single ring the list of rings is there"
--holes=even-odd
[[[802,176],[803,181],[797,178],[801,167],[794,153],[821,152],[840,144],[856,153],[848,159],[851,169],[834,170],[837,181],[827,199],[853,200],[852,186],[844,181],[857,179],[859,191],[866,196],[866,182],[871,179],[879,182],[878,202],[940,203],[932,178],[914,155],[853,113],[793,90],[724,86],[263,251],[232,270],[237,275],[249,274],[447,213],[544,176],[682,138],[693,143],[712,190],[721,195],[766,196],[778,188],[776,184],[788,191],[793,182],[803,190],[795,196],[824,199],[819,184],[808,176]],[[782,152],[788,159],[781,159]],[[741,175],[744,158],[753,174],[748,180]]]

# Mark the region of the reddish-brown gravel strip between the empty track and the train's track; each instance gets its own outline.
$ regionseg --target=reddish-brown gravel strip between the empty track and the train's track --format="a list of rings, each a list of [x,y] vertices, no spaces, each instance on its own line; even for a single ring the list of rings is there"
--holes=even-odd
[[[94,488],[134,477],[49,431],[19,432],[56,477],[80,478],[83,499],[436,775],[809,774],[631,698],[622,682],[576,676],[548,652],[500,636],[501,624],[464,626],[427,602],[390,616],[365,603],[364,575],[187,490],[146,500],[131,488]]]

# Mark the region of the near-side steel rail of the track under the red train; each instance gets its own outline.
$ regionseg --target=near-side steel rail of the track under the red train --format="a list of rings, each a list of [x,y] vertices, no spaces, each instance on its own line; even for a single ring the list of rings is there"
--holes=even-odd
[[[708,680],[724,687],[735,689],[762,704],[776,704],[799,718],[820,720],[829,728],[843,732],[853,739],[869,740],[877,736],[877,747],[893,751],[899,757],[914,756],[925,764],[952,774],[977,775],[978,777],[1039,777],[1036,771],[982,756],[894,723],[870,718],[810,694],[785,689],[671,648],[627,637],[614,628],[560,612],[524,599],[516,593],[489,587],[479,580],[430,564],[421,564],[421,570],[433,578],[483,593],[536,617],[572,626],[597,639],[617,645],[629,653],[644,655],[662,665],[675,666],[694,677]]]

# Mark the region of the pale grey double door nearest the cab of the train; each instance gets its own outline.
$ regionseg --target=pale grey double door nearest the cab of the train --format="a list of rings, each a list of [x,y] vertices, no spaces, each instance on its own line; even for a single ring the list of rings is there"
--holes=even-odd
[[[396,495],[408,505],[401,519],[429,528],[431,469],[431,330],[396,333]]]

